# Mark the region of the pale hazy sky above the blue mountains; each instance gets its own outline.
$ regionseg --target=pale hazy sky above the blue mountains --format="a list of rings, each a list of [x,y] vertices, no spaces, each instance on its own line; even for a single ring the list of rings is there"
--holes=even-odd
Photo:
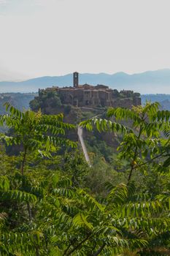
[[[170,68],[169,0],[0,0],[0,73]]]

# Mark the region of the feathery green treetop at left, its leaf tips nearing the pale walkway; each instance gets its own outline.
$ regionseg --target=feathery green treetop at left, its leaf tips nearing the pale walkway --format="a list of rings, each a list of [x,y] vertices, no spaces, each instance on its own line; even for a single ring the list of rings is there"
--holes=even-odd
[[[58,146],[76,146],[72,140],[63,138],[66,130],[74,129],[74,125],[64,123],[62,114],[45,116],[40,111],[20,112],[9,103],[6,103],[6,109],[9,110],[9,115],[1,116],[0,123],[12,128],[13,135],[1,134],[1,139],[6,141],[7,146],[15,144],[23,147],[23,161],[27,151],[51,157]]]

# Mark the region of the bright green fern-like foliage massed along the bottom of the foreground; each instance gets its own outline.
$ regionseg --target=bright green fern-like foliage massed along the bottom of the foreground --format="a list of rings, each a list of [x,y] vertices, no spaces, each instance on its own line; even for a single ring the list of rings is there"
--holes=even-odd
[[[102,255],[112,255],[128,247],[144,249],[147,236],[151,243],[158,230],[169,230],[169,219],[163,218],[169,211],[168,196],[136,202],[135,187],[120,184],[101,204],[84,190],[72,188],[72,182],[63,188],[58,176],[49,176],[48,184],[39,186],[45,195],[37,201],[34,221],[38,222],[4,233],[1,255],[51,255],[55,249],[61,255],[94,255],[102,248]]]

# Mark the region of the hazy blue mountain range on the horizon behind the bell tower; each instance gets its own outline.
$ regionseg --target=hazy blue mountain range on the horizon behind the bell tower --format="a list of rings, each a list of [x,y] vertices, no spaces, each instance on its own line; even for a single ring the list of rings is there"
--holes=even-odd
[[[118,91],[134,90],[141,94],[170,94],[170,69],[147,71],[134,75],[117,72],[113,75],[106,73],[80,74],[80,84],[104,84]],[[52,86],[72,86],[72,74],[63,76],[45,76],[33,78],[23,82],[0,82],[2,92],[36,92]]]

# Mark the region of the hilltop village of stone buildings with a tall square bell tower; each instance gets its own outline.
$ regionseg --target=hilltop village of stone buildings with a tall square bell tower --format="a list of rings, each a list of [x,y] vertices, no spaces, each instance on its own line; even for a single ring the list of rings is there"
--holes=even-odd
[[[109,86],[98,84],[91,86],[87,83],[79,84],[79,73],[73,73],[73,86],[60,88],[53,86],[47,89],[39,89],[39,97],[49,92],[56,92],[63,105],[76,107],[100,108],[100,107],[125,107],[141,105],[139,93],[134,91],[120,91],[110,89]]]

